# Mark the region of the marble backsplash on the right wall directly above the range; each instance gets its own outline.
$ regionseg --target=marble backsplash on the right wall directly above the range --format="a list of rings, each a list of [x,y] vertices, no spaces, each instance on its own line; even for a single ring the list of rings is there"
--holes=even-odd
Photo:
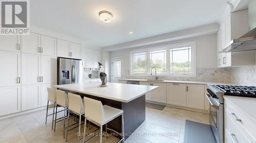
[[[256,66],[234,67],[231,82],[238,85],[256,85]]]

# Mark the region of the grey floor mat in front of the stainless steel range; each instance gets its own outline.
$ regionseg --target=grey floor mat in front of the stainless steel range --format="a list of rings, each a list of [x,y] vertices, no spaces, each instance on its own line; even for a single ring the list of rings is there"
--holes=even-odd
[[[186,120],[184,143],[216,143],[210,125]]]

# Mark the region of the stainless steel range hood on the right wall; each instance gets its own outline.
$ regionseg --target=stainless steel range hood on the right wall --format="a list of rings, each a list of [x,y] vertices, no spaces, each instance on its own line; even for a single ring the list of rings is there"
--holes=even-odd
[[[240,37],[231,40],[221,52],[256,50],[256,27]]]

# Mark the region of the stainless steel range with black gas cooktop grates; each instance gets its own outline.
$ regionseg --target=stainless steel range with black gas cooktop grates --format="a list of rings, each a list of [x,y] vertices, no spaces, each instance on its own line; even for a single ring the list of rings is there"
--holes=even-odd
[[[238,85],[208,85],[210,126],[218,143],[224,143],[223,95],[256,98],[256,87]]]

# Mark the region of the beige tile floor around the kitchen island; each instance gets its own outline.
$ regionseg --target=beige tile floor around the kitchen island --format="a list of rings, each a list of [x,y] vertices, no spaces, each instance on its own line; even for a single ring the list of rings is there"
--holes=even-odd
[[[65,142],[63,122],[56,124],[56,132],[54,132],[51,129],[52,117],[48,117],[48,123],[45,124],[45,114],[46,110],[39,110],[0,120],[0,142]],[[60,112],[57,118],[62,116],[63,112]],[[181,143],[184,141],[185,120],[209,124],[208,115],[205,113],[171,107],[165,107],[163,110],[146,108],[146,121],[125,142]],[[74,122],[73,117],[70,121]],[[92,126],[91,130],[88,131],[95,129]],[[78,141],[77,139],[77,131],[77,128],[69,131],[68,142],[82,142],[82,140]],[[113,136],[103,137],[103,142],[117,141],[118,139]],[[99,137],[95,137],[89,142],[99,142]]]

